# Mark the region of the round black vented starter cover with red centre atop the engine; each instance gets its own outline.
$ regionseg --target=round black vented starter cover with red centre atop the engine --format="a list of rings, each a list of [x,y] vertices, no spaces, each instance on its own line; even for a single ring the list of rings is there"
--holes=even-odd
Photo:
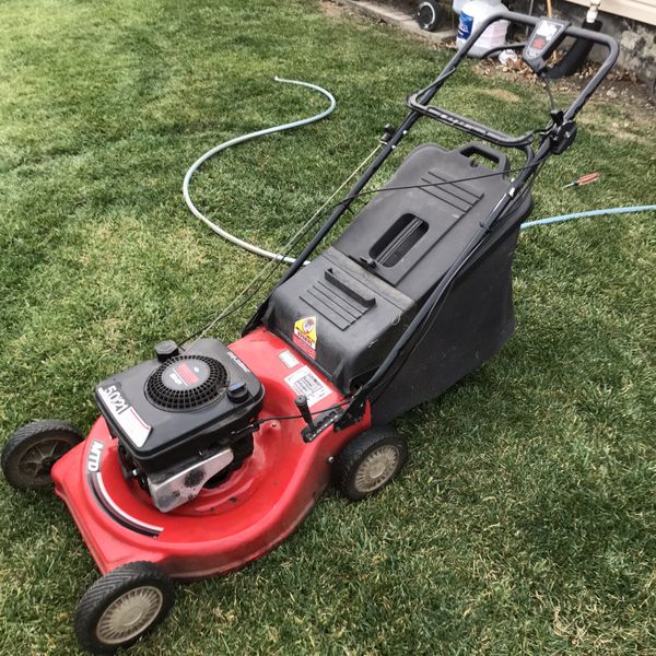
[[[196,410],[220,399],[227,388],[227,370],[213,358],[178,355],[159,366],[145,383],[148,400],[162,410]]]

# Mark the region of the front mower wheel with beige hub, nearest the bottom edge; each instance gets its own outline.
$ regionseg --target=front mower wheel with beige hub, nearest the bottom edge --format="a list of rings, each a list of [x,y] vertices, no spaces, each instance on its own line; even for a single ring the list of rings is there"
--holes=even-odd
[[[154,629],[173,607],[173,581],[154,563],[116,567],[84,593],[75,608],[75,633],[92,654],[114,654]]]

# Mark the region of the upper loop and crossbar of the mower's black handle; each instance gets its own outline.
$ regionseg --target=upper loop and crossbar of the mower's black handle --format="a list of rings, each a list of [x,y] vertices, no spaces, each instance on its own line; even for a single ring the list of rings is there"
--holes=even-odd
[[[518,137],[506,134],[505,132],[490,128],[489,126],[477,122],[470,118],[460,116],[455,112],[444,109],[443,107],[436,107],[435,105],[430,105],[430,102],[437,90],[446,82],[447,78],[455,72],[456,68],[459,66],[462,59],[465,59],[467,52],[469,52],[469,50],[473,47],[479,36],[481,36],[481,34],[492,23],[496,23],[497,21],[508,21],[535,27],[540,20],[540,17],[528,16],[515,12],[500,12],[489,16],[465,42],[462,48],[456,52],[452,60],[446,65],[440,77],[432,84],[408,96],[406,101],[408,107],[423,116],[427,116],[429,118],[432,118],[438,122],[445,124],[458,130],[462,130],[464,132],[472,134],[479,139],[483,139],[484,141],[489,141],[490,143],[494,143],[495,145],[518,148],[527,151],[534,140],[532,130]],[[608,55],[599,67],[599,70],[578,94],[576,99],[565,110],[563,119],[572,120],[578,114],[578,112],[581,112],[590,95],[593,95],[597,86],[599,86],[604,78],[606,78],[610,69],[613,67],[619,55],[619,46],[616,39],[607,34],[593,32],[591,30],[584,30],[582,27],[574,27],[573,25],[569,25],[564,31],[563,38],[566,36],[583,38],[608,48]]]

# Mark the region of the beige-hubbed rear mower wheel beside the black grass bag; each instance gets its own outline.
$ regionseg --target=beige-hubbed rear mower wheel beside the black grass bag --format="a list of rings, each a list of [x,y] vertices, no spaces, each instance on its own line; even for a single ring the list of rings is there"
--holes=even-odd
[[[335,484],[351,501],[360,501],[389,483],[408,459],[408,444],[391,427],[371,429],[344,446],[335,466]]]

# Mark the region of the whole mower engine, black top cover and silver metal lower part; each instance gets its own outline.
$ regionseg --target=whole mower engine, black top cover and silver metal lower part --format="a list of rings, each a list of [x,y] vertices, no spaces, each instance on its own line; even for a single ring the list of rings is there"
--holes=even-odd
[[[253,454],[265,391],[215,339],[201,339],[183,354],[165,341],[155,353],[103,380],[95,397],[118,440],[124,475],[166,513],[219,484]]]

